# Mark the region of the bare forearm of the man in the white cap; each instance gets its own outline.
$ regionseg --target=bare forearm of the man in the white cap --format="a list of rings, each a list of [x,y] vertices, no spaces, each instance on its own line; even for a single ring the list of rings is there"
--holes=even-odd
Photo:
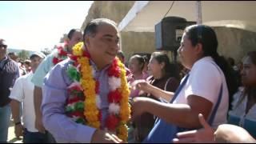
[[[17,100],[12,99],[10,102],[11,113],[14,118],[14,123],[21,122],[20,118],[20,103]]]

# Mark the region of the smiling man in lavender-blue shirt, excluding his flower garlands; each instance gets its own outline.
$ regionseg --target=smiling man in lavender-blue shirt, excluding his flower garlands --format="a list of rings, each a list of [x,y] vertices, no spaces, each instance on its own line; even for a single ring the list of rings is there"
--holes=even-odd
[[[94,78],[100,83],[98,107],[102,111],[102,127],[101,129],[95,129],[92,126],[76,123],[67,117],[65,106],[66,100],[70,97],[67,88],[72,81],[66,74],[66,69],[70,65],[70,59],[58,63],[46,75],[42,87],[43,124],[46,130],[54,135],[57,142],[122,142],[115,134],[106,130],[106,123],[104,123],[109,113],[107,97],[110,92],[108,68],[114,62],[119,50],[118,28],[115,22],[109,19],[94,19],[86,26],[83,39],[84,50],[90,54],[89,60],[94,71]]]

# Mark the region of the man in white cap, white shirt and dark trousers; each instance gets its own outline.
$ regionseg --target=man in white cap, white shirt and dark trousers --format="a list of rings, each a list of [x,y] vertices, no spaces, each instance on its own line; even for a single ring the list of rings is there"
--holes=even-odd
[[[35,128],[34,114],[34,83],[31,82],[34,71],[37,69],[45,54],[35,52],[30,55],[31,71],[18,78],[10,92],[10,106],[14,118],[14,133],[16,137],[23,136],[23,142],[47,142],[47,134],[38,133]],[[20,105],[23,103],[23,112]],[[21,122],[21,117],[22,121]]]

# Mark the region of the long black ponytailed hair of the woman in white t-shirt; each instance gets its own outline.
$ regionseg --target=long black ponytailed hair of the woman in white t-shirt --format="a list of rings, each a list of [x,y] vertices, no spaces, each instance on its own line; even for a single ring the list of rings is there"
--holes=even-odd
[[[230,103],[232,102],[233,94],[238,90],[238,83],[235,80],[234,74],[231,72],[231,67],[226,59],[220,56],[217,52],[218,40],[214,30],[210,26],[193,25],[186,27],[187,38],[190,39],[192,46],[198,43],[202,44],[203,56],[214,58],[214,62],[222,69],[226,84],[230,94]]]

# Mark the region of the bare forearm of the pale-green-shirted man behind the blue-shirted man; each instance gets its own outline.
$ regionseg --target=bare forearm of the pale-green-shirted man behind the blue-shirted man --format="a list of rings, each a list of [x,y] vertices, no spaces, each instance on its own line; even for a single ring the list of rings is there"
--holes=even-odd
[[[42,88],[34,86],[34,111],[35,116],[42,118],[42,112],[40,110],[42,104]]]

